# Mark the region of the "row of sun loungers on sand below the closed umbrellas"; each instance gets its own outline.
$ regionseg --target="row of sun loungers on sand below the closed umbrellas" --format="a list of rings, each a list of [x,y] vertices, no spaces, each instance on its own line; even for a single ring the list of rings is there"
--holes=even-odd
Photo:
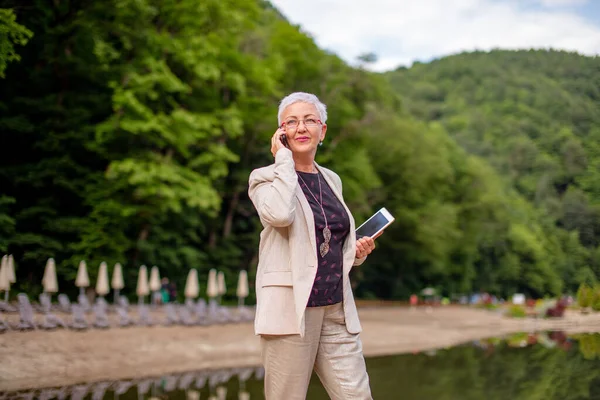
[[[87,297],[79,296],[78,302],[71,304],[65,295],[58,296],[58,305],[50,302],[47,294],[40,296],[40,304],[35,307],[30,303],[26,294],[20,293],[17,296],[18,306],[16,311],[19,313],[19,322],[11,325],[0,312],[0,333],[10,329],[27,331],[33,329],[53,330],[58,328],[85,330],[88,328],[107,329],[111,327],[108,316],[109,312],[116,313],[117,322],[114,318],[112,325],[119,327],[129,326],[154,326],[154,325],[212,325],[224,323],[248,322],[254,318],[253,309],[250,307],[224,307],[212,300],[208,304],[204,299],[194,302],[188,299],[185,304],[168,303],[162,306],[148,306],[141,304],[137,306],[137,318],[131,313],[129,302],[126,297],[121,296],[118,304],[110,307],[103,298],[98,298],[93,305],[90,305]],[[164,310],[164,316],[159,319],[153,317],[151,307],[157,309],[161,307]],[[6,305],[3,309],[7,309]],[[43,314],[43,321],[36,321],[34,311]],[[61,318],[55,311],[71,314],[70,318]],[[89,318],[86,314],[91,313]]]

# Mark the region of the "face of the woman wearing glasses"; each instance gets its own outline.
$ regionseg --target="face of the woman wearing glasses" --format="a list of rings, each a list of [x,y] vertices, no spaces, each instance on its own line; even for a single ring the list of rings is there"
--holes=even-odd
[[[309,103],[294,103],[283,111],[281,117],[290,150],[314,154],[327,132],[327,125],[318,122],[320,117],[317,108]],[[294,123],[296,127],[291,127]]]

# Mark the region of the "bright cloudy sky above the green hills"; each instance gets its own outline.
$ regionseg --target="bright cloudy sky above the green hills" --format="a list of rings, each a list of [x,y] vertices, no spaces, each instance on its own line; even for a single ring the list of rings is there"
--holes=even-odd
[[[271,0],[323,49],[374,71],[463,51],[562,49],[600,55],[600,0]]]

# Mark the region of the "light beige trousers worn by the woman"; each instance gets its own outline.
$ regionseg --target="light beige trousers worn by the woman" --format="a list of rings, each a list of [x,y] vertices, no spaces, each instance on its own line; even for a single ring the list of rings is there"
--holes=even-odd
[[[358,334],[342,303],[307,307],[305,335],[261,335],[266,400],[304,400],[312,371],[333,400],[372,400]]]

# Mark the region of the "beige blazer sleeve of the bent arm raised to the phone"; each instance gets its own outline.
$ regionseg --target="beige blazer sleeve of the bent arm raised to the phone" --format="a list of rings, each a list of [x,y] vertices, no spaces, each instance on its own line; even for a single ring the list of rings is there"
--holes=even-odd
[[[291,225],[296,211],[297,185],[292,152],[286,148],[275,154],[274,167],[252,171],[248,195],[261,220],[274,227]]]

